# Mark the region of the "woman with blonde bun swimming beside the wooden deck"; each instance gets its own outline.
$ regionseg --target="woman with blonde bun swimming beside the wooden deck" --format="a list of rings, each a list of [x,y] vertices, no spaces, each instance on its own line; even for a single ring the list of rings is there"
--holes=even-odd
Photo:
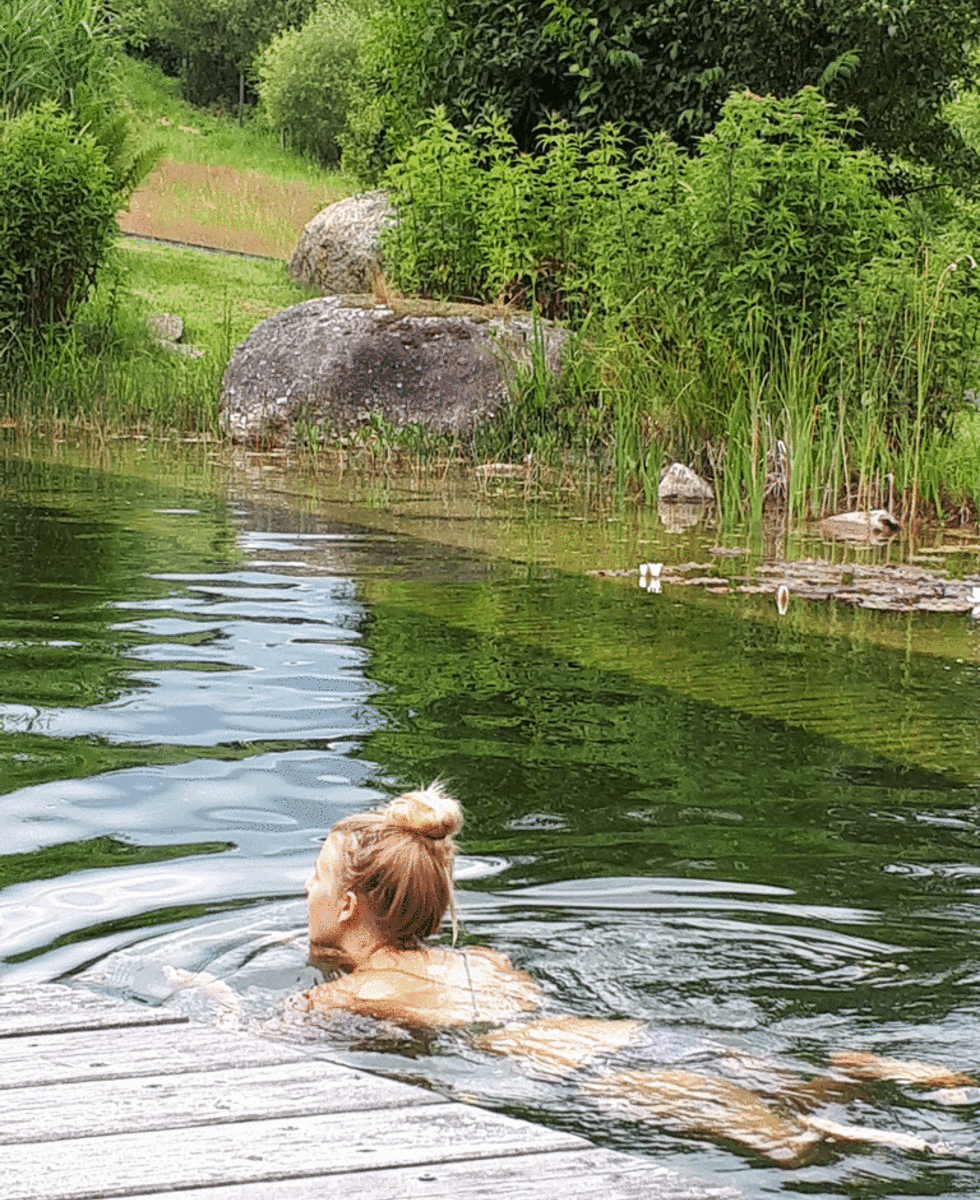
[[[808,1162],[826,1140],[933,1148],[907,1134],[812,1114],[820,1103],[853,1096],[864,1082],[975,1085],[943,1067],[862,1052],[832,1055],[831,1074],[810,1081],[725,1048],[722,1060],[731,1061],[721,1061],[717,1076],[617,1067],[617,1052],[642,1042],[645,1022],[533,1016],[542,997],[530,976],[495,950],[455,948],[452,863],[462,822],[459,805],[433,784],[333,826],[306,893],[311,958],[343,973],[290,1007],[344,1009],[415,1027],[465,1027],[480,1049],[507,1055],[534,1075],[572,1075],[581,1094],[619,1115],[721,1138],[787,1166]],[[447,911],[453,947],[428,944]],[[750,1078],[752,1090],[745,1086]]]

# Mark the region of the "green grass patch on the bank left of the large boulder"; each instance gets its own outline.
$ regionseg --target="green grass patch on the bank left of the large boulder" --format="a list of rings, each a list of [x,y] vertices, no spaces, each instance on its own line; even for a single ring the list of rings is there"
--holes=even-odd
[[[6,347],[0,414],[7,426],[139,436],[216,437],[224,367],[273,312],[308,298],[282,264],[124,244],[68,329]],[[160,346],[146,318],[185,323],[188,358]]]

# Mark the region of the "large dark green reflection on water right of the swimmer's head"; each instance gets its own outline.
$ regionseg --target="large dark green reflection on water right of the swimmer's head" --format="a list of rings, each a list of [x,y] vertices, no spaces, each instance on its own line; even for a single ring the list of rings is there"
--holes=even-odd
[[[691,875],[877,906],[904,887],[889,864],[968,860],[978,794],[951,774],[975,748],[931,772],[889,752],[890,731],[876,752],[867,724],[894,722],[886,698],[910,696],[932,752],[950,685],[967,684],[943,662],[638,608],[581,580],[371,590],[368,673],[390,720],[363,755],[405,785],[450,781],[470,850],[530,859],[510,883]],[[962,810],[958,830],[919,820]]]

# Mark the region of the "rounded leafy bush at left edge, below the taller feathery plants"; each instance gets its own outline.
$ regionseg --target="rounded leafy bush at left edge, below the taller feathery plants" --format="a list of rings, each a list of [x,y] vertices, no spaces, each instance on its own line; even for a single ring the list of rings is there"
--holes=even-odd
[[[44,103],[0,131],[0,330],[66,323],[115,233],[119,193],[95,139]]]

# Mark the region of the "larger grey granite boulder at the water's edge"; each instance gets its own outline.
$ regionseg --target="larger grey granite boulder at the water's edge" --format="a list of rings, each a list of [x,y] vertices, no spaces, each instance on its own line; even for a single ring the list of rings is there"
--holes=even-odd
[[[431,311],[439,307],[451,314]],[[564,332],[539,330],[558,372]],[[530,317],[475,306],[416,302],[396,313],[366,296],[307,300],[257,325],[235,349],[222,421],[235,440],[289,440],[296,424],[343,434],[375,413],[395,428],[465,437],[506,400],[507,379],[534,342]]]

